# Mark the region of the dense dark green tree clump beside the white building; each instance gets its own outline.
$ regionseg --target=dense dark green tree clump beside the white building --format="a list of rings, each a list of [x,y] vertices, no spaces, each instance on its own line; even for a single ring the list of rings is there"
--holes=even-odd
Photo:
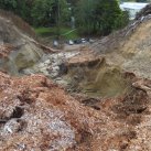
[[[87,34],[107,35],[126,24],[117,0],[79,0],[76,12],[77,26]]]

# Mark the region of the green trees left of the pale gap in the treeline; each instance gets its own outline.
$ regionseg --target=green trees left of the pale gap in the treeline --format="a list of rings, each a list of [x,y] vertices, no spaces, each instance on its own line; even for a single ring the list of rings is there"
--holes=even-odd
[[[58,12],[60,7],[60,12]],[[0,9],[12,11],[32,25],[50,25],[68,21],[66,0],[0,0]]]

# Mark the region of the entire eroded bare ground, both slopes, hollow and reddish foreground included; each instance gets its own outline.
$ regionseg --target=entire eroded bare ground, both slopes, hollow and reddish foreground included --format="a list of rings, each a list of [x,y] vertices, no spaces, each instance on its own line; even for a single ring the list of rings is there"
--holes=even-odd
[[[1,15],[0,151],[150,151],[150,8],[55,54]]]

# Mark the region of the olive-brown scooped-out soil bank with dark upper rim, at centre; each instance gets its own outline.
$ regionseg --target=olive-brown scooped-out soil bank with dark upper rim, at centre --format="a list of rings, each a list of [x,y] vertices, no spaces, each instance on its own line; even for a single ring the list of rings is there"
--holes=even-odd
[[[68,89],[89,97],[116,97],[131,90],[131,79],[119,66],[108,65],[104,57],[67,65]]]

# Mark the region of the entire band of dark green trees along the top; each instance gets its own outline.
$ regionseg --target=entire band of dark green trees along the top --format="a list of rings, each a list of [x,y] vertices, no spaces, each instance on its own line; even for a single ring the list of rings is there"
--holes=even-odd
[[[128,21],[118,0],[0,0],[0,8],[36,26],[69,24],[75,17],[84,34],[106,35]]]

